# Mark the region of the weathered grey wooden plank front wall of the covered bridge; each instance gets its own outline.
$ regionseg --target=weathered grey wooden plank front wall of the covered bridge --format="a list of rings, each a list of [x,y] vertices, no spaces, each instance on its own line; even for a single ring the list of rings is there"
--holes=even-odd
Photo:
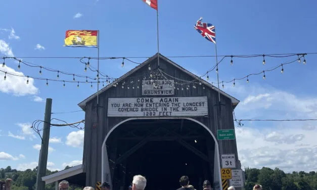
[[[151,67],[157,68],[156,59],[151,62]],[[194,78],[184,73],[182,70],[174,67],[173,65],[160,59],[160,68],[164,70],[167,74],[180,78],[183,80],[193,80]],[[131,76],[141,76],[144,73],[148,73],[148,66],[140,68],[138,71],[133,73]],[[135,89],[126,88],[129,80],[125,80],[125,87],[121,87],[120,82],[117,87],[111,87],[107,91],[99,94],[100,106],[99,108],[99,120],[97,121],[97,99],[94,99],[87,103],[86,113],[85,113],[85,129],[84,129],[84,149],[83,149],[83,164],[85,166],[86,172],[86,185],[94,186],[97,181],[101,181],[101,159],[102,159],[102,144],[104,138],[106,137],[109,130],[115,126],[117,123],[127,119],[120,117],[107,117],[107,99],[108,98],[129,98],[129,97],[146,97],[142,96],[141,82],[143,77],[140,77],[140,88],[137,88],[137,78],[134,78]],[[202,85],[197,85],[196,89],[190,88],[184,90],[175,89],[175,96],[172,97],[193,97],[193,96],[207,96],[208,97],[208,115],[209,117],[195,117],[197,121],[205,124],[217,138],[217,129],[233,129],[233,108],[231,100],[220,94],[221,103],[224,104],[221,107],[221,126],[218,126],[218,92],[214,89],[205,86],[203,89]],[[151,96],[155,97],[155,96]],[[159,97],[159,96],[158,96]],[[168,97],[168,96],[164,96]],[[97,128],[93,128],[93,124],[98,123]],[[219,150],[221,154],[236,154],[236,159],[238,159],[237,154],[237,144],[236,140],[219,140]],[[111,145],[108,145],[111,146]]]

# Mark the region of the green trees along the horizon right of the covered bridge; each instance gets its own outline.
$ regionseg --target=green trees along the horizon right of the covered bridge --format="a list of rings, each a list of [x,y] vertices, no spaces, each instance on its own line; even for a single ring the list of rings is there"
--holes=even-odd
[[[293,171],[284,173],[279,168],[274,170],[263,167],[262,169],[245,168],[244,189],[252,189],[258,183],[263,190],[312,190],[317,189],[317,174],[314,171]]]

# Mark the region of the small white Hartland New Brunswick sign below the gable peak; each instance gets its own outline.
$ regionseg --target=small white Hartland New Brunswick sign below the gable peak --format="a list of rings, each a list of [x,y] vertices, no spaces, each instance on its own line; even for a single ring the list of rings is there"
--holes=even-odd
[[[142,80],[142,96],[170,96],[174,93],[174,80]]]

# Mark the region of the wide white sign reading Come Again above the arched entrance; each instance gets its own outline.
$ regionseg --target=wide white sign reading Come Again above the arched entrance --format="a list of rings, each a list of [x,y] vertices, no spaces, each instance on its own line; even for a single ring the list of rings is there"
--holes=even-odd
[[[207,97],[108,99],[108,117],[182,116],[208,116]]]

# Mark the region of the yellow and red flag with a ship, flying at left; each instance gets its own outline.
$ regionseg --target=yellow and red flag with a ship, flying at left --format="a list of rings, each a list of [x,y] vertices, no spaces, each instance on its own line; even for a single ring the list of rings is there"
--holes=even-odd
[[[98,30],[67,30],[64,46],[98,48],[97,37]]]

